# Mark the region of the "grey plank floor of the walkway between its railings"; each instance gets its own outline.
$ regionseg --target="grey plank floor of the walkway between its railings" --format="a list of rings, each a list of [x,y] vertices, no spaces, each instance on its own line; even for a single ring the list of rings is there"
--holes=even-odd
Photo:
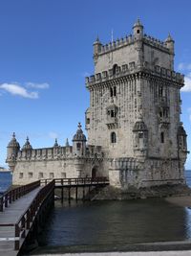
[[[14,224],[19,221],[20,217],[29,208],[32,200],[36,197],[41,188],[42,187],[38,187],[22,198],[15,200],[8,208],[0,212],[0,224]],[[5,256],[5,252],[7,256],[17,255],[18,251],[14,250],[14,237],[14,226],[0,226],[0,256]],[[5,241],[6,239],[10,239],[10,241]]]

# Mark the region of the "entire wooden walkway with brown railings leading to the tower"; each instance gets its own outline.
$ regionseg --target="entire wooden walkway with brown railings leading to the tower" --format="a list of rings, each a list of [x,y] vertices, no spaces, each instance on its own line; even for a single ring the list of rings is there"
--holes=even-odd
[[[0,198],[0,256],[16,256],[28,234],[34,229],[53,205],[54,188],[99,188],[109,184],[106,177],[42,179],[13,189]],[[41,186],[40,186],[41,185]]]

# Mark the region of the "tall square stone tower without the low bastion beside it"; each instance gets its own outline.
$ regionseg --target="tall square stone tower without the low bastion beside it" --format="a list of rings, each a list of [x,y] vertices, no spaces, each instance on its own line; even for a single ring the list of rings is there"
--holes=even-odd
[[[174,40],[144,34],[94,43],[95,75],[86,78],[88,144],[101,146],[111,184],[145,187],[184,183],[186,133],[180,123],[180,88]]]

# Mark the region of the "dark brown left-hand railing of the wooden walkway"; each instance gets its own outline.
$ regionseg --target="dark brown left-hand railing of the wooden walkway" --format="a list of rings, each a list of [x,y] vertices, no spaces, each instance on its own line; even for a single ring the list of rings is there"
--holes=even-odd
[[[0,212],[3,212],[5,207],[8,207],[12,201],[15,201],[18,198],[23,197],[28,194],[35,188],[40,186],[40,180],[34,181],[30,184],[20,186],[15,189],[11,189],[10,191],[4,193],[0,198]]]

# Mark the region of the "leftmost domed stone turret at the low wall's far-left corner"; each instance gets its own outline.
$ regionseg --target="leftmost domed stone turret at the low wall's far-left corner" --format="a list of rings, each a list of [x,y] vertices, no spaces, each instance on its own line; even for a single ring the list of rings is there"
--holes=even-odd
[[[14,170],[16,157],[19,150],[20,150],[20,145],[15,138],[15,133],[13,132],[11,141],[7,147],[7,159],[6,159],[6,163],[9,164],[11,171]]]

